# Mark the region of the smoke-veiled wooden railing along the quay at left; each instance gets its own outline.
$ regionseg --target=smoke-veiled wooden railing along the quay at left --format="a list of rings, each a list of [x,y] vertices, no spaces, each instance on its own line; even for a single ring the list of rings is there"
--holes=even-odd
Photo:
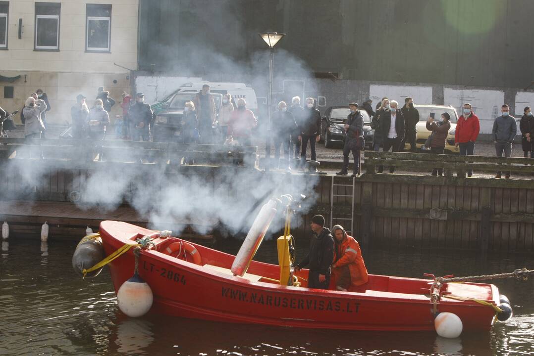
[[[257,166],[257,147],[120,140],[0,138],[0,159],[43,158],[90,162]]]

